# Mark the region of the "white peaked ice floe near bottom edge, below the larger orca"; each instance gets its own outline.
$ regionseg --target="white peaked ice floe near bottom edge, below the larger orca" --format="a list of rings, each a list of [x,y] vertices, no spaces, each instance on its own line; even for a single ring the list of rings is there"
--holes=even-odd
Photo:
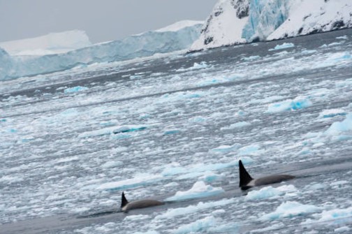
[[[304,205],[295,201],[287,201],[279,205],[277,209],[260,217],[261,220],[275,220],[281,218],[292,218],[304,214],[320,212],[321,208],[315,205]]]

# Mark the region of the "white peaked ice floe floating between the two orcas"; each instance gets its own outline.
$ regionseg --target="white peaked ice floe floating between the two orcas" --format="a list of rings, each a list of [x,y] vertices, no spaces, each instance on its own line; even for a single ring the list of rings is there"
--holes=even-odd
[[[204,198],[207,196],[214,196],[223,192],[224,191],[221,187],[212,187],[209,184],[205,184],[205,182],[203,181],[198,181],[195,184],[193,184],[193,187],[188,191],[177,191],[175,196],[166,198],[166,201]]]

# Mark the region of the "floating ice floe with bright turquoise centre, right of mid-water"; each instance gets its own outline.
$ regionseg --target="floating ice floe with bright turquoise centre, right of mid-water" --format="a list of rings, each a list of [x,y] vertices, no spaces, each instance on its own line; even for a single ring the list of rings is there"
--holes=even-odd
[[[288,99],[286,101],[280,101],[278,103],[271,103],[266,112],[267,113],[277,113],[284,112],[287,110],[300,110],[304,108],[308,108],[312,103],[309,98],[305,96],[298,96],[295,99]]]

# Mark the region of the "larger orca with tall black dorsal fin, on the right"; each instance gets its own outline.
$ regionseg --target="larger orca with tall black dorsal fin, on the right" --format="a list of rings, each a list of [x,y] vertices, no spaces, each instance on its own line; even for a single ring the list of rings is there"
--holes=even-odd
[[[261,186],[266,184],[280,183],[285,180],[292,180],[295,178],[293,175],[269,175],[254,179],[249,175],[246,168],[244,168],[242,161],[238,161],[238,166],[240,168],[240,188],[242,190],[250,189],[251,187]]]

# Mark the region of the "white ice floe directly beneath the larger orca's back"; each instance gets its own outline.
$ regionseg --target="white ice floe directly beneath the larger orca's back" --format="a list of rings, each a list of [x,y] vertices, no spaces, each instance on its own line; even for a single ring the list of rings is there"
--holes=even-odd
[[[292,185],[283,185],[281,187],[273,188],[271,186],[264,187],[260,190],[249,191],[247,196],[245,197],[246,200],[261,200],[266,198],[274,198],[277,196],[293,196],[297,189]]]

